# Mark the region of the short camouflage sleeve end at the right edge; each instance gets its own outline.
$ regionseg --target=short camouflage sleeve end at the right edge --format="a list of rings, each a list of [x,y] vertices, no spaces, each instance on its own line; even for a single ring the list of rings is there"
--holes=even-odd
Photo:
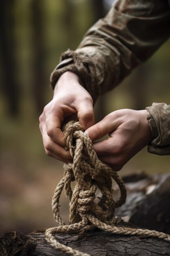
[[[156,155],[170,155],[170,105],[153,103],[146,109],[154,138],[148,145],[148,152]]]

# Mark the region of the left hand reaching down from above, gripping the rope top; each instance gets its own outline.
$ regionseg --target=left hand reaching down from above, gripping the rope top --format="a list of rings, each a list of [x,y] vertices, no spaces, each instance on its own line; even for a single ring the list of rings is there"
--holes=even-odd
[[[62,162],[72,162],[65,150],[61,125],[64,121],[78,119],[86,130],[94,124],[93,99],[83,88],[79,77],[72,72],[60,76],[54,89],[53,100],[40,116],[40,131],[47,155]]]

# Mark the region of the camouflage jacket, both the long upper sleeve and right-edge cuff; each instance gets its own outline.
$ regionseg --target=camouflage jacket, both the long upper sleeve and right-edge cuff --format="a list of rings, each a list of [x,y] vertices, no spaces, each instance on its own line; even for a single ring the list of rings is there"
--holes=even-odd
[[[170,0],[116,0],[103,19],[91,27],[75,51],[67,51],[51,74],[71,71],[95,101],[146,61],[170,36]],[[148,151],[170,155],[170,105],[153,103],[148,123],[153,140]]]

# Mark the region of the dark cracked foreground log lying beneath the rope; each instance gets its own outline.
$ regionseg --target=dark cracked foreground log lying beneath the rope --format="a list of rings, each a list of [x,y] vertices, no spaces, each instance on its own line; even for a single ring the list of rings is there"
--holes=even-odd
[[[80,238],[61,234],[55,237],[60,243],[91,256],[170,256],[170,243],[158,238],[113,235],[100,230],[89,231]],[[15,232],[6,233],[0,243],[1,256],[66,256],[44,240],[43,230],[20,237]]]

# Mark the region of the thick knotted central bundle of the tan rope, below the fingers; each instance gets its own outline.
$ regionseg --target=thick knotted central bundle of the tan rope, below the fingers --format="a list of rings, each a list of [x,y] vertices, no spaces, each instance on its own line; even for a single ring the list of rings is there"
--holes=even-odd
[[[93,215],[104,222],[112,219],[115,207],[122,205],[126,200],[126,188],[119,175],[109,166],[102,163],[94,150],[91,139],[84,133],[79,122],[71,121],[63,127],[66,149],[73,157],[73,164],[64,164],[67,184],[71,182],[67,171],[71,171],[77,182],[71,198],[70,222],[77,222],[81,214]],[[86,147],[88,157],[84,157],[83,148]],[[69,170],[68,170],[69,169]],[[119,185],[121,196],[115,202],[111,194],[112,177]],[[94,202],[97,188],[102,192],[99,202]],[[70,186],[65,186],[66,194],[70,193]],[[89,219],[91,222],[91,220]]]

